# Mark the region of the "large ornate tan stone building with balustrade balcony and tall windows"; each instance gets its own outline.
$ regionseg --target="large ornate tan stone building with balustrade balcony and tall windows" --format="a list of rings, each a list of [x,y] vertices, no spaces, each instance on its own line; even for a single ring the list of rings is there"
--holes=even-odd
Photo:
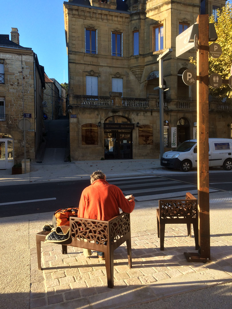
[[[206,2],[204,10],[212,14],[214,2]],[[188,60],[195,53],[191,49],[176,57],[175,44],[199,10],[198,0],[64,2],[71,160],[159,157],[159,92],[154,88],[159,85],[157,57],[168,48],[173,52],[163,61],[165,151],[195,137],[196,85],[182,80],[184,70],[195,70]],[[210,102],[209,137],[230,137],[231,116],[230,105]]]

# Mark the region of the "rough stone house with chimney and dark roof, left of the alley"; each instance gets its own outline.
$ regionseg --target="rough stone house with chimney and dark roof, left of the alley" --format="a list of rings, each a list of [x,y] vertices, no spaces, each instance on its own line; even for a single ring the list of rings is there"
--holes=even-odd
[[[36,159],[42,141],[44,87],[44,67],[31,48],[19,45],[18,29],[12,28],[11,40],[0,35],[0,169],[24,159],[23,119],[28,125],[26,159]]]

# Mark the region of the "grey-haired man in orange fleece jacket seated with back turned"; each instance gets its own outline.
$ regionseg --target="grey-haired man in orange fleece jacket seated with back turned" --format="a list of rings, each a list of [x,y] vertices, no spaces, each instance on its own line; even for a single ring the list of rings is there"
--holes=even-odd
[[[109,221],[119,215],[119,208],[131,213],[135,208],[135,197],[124,197],[121,189],[106,181],[102,171],[95,171],[90,176],[91,185],[86,187],[80,197],[78,217]],[[98,252],[98,257],[104,259],[104,253]]]

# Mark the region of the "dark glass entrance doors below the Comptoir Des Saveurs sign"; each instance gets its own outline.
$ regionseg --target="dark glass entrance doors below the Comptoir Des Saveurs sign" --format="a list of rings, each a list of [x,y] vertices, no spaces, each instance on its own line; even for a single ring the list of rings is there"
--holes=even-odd
[[[105,159],[132,159],[131,132],[104,132]]]

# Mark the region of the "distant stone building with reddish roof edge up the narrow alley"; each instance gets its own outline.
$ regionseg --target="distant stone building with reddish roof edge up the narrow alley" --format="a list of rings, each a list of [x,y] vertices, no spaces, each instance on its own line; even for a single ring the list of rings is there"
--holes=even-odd
[[[59,89],[53,80],[51,80],[46,74],[44,74],[44,76],[46,85],[43,101],[44,112],[47,114],[49,120],[56,120],[59,115]]]

